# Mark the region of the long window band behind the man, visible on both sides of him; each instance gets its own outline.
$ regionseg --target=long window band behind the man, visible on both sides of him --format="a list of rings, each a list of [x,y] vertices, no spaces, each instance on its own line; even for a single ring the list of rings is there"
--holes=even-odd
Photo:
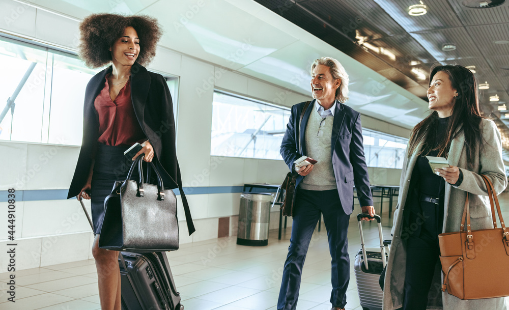
[[[214,92],[210,155],[279,159],[290,109],[238,95]],[[408,139],[362,129],[370,167],[402,168]]]

